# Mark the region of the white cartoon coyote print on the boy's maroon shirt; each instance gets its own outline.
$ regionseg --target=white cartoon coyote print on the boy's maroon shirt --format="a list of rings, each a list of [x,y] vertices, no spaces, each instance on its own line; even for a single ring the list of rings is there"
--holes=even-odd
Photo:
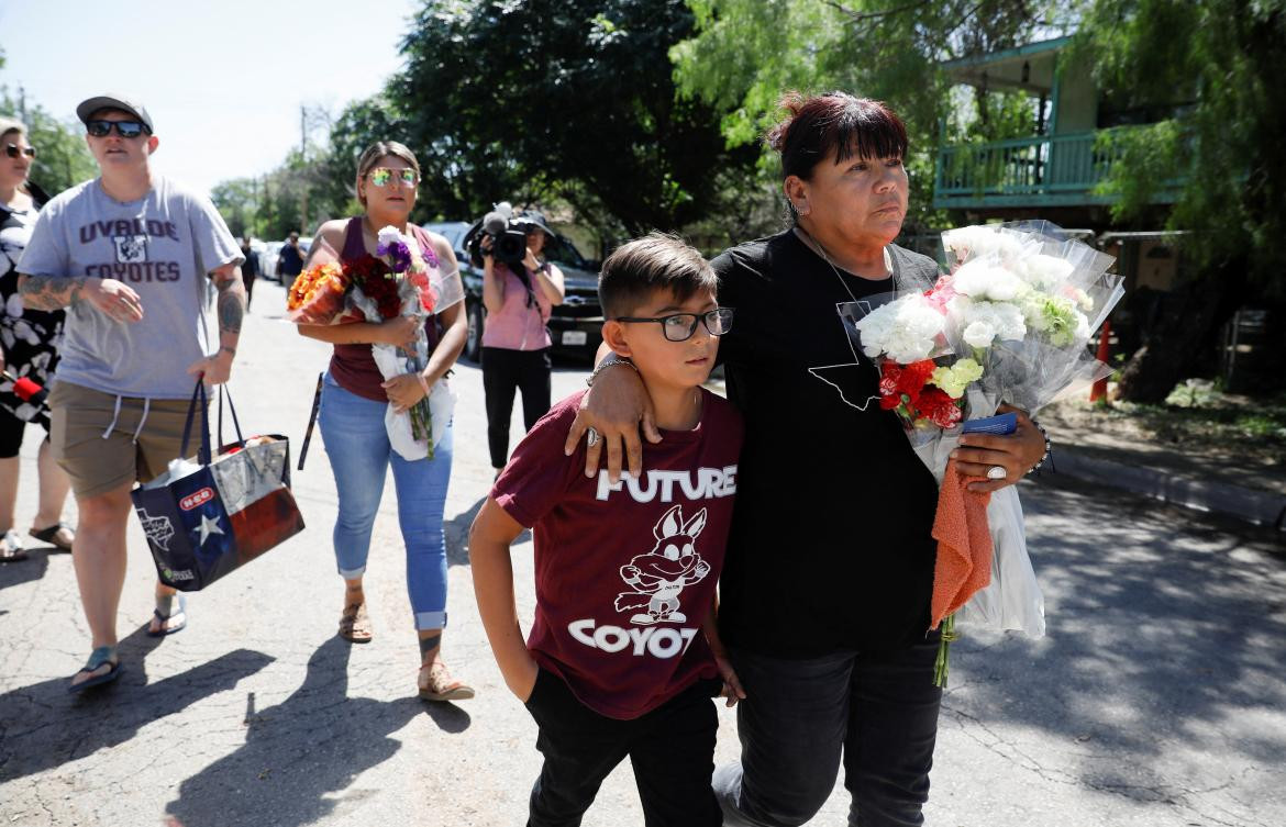
[[[630,623],[684,623],[688,616],[679,611],[679,593],[710,573],[710,564],[696,550],[697,535],[705,527],[705,509],[687,524],[683,506],[666,511],[652,529],[656,546],[621,566],[621,579],[634,591],[616,596],[616,611],[646,606],[647,611],[631,616]]]

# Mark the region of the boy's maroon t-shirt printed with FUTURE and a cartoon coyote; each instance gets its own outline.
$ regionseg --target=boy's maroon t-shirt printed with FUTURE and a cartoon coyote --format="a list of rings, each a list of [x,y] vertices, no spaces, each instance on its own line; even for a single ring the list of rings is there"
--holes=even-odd
[[[638,718],[719,674],[701,625],[723,570],[742,422],[701,393],[697,428],[643,443],[642,479],[586,478],[584,444],[563,456],[576,393],[536,422],[491,489],[535,538],[527,647],[610,718]]]

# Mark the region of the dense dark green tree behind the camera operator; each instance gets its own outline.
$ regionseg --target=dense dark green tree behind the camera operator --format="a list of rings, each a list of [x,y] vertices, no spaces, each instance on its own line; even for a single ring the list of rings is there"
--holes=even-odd
[[[428,1],[405,71],[349,122],[406,136],[430,212],[562,199],[601,230],[676,229],[710,211],[718,172],[757,157],[675,94],[667,54],[692,23],[680,0]]]

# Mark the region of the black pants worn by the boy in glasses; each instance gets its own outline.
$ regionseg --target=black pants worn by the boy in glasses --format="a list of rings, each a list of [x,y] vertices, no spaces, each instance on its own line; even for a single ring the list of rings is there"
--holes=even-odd
[[[527,827],[577,827],[603,778],[625,756],[647,827],[719,827],[723,815],[710,774],[719,719],[711,687],[698,682],[634,720],[593,711],[558,675],[544,669],[527,700],[540,726],[536,749],[545,756],[531,790]]]

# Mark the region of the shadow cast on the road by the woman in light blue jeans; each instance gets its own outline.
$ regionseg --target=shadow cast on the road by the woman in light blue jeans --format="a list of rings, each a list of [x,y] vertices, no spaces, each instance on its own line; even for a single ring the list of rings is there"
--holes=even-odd
[[[166,805],[183,827],[273,824],[296,827],[328,815],[354,779],[397,751],[390,736],[418,715],[449,733],[469,727],[451,704],[406,697],[391,702],[349,697],[349,652],[340,637],[309,659],[303,684],[275,706],[256,711],[247,697],[246,745],[179,787]],[[346,797],[361,797],[352,791]]]

